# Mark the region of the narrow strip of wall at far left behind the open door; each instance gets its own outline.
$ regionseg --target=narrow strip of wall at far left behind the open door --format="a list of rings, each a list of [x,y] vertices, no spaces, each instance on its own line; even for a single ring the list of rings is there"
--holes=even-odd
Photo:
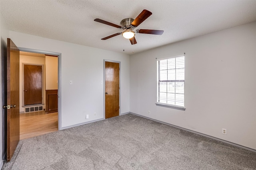
[[[1,37],[1,41],[0,41],[0,54],[1,54],[1,64],[0,64],[0,70],[2,70],[2,59],[4,57],[4,55],[6,55],[6,47],[7,47],[7,38],[9,37],[9,30],[8,30],[8,27],[6,25],[6,22],[2,16],[2,13],[0,12],[0,37]],[[2,74],[0,74],[0,79],[2,81]],[[2,83],[0,84],[0,93],[1,93],[1,97],[0,97],[0,104],[2,104]],[[2,108],[2,107],[1,107]],[[0,137],[2,137],[2,139],[0,139],[0,168],[2,168],[2,165],[3,165],[3,156],[4,154],[6,154],[6,149],[4,149],[3,147],[3,144],[6,143],[6,139],[4,139],[4,136],[6,135],[6,132],[4,132],[5,134],[2,133],[2,126],[3,126],[3,117],[4,114],[3,114],[3,109],[1,109],[1,116],[0,116]],[[4,151],[3,151],[4,150]]]

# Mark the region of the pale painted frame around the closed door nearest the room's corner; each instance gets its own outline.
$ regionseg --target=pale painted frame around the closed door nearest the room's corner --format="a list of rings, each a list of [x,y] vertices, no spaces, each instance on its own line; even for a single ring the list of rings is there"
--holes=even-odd
[[[121,111],[121,62],[120,61],[114,61],[114,60],[105,60],[104,59],[104,64],[103,64],[103,106],[104,106],[104,119],[106,119],[105,118],[105,116],[106,116],[106,113],[105,113],[105,111],[106,111],[106,95],[105,95],[105,63],[106,62],[111,62],[111,63],[119,63],[119,106],[120,106],[120,108],[119,108],[119,115],[120,115],[120,111]]]

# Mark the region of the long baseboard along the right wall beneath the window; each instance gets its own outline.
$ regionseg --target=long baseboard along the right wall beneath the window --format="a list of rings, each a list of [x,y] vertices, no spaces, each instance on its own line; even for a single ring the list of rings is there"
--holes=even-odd
[[[219,139],[219,138],[216,138],[216,137],[213,137],[213,136],[210,136],[210,135],[206,135],[206,134],[204,134],[204,133],[199,133],[199,132],[196,132],[196,131],[192,131],[192,130],[189,130],[189,129],[186,129],[186,128],[183,128],[183,127],[180,127],[180,126],[172,125],[172,124],[170,124],[170,123],[165,123],[165,122],[163,122],[163,121],[159,121],[159,120],[152,119],[152,118],[149,118],[149,117],[146,117],[146,116],[138,115],[138,114],[136,114],[136,113],[132,113],[132,112],[130,112],[130,113],[133,114],[133,115],[136,115],[136,116],[140,116],[140,117],[143,117],[143,118],[152,120],[152,121],[156,121],[156,122],[165,124],[165,125],[169,125],[169,126],[172,126],[172,127],[176,127],[176,128],[178,128],[178,129],[181,129],[181,130],[184,130],[184,131],[188,131],[188,132],[191,132],[191,133],[194,133],[194,134],[197,134],[197,135],[201,135],[201,136],[204,136],[204,137],[208,137],[208,138],[214,139],[214,140],[216,140],[216,141],[220,141],[220,142],[223,142],[223,143],[227,143],[227,144],[233,145],[233,146],[235,146],[235,147],[239,147],[239,148],[242,148],[242,149],[250,150],[250,151],[252,151],[252,152],[256,152],[255,149],[252,149],[252,148],[249,148],[249,147],[244,147],[244,146],[242,146],[242,145],[239,145],[239,144],[236,144],[236,143],[232,143],[232,142],[230,142],[230,141],[225,141],[225,140],[223,140],[223,139]]]

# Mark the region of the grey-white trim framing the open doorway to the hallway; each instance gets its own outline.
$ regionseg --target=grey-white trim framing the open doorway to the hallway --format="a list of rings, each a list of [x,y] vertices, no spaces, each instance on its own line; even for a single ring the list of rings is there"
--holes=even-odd
[[[61,116],[61,53],[18,47],[20,51],[58,56],[58,130],[62,130]]]

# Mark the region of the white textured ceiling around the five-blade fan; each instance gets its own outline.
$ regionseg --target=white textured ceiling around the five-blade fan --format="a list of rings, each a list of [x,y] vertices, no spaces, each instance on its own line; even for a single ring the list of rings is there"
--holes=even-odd
[[[136,29],[162,35],[136,34],[135,45],[122,35],[101,40],[121,30],[94,19],[120,25],[144,9],[152,15]],[[256,21],[256,0],[0,0],[0,10],[12,31],[126,54]]]

